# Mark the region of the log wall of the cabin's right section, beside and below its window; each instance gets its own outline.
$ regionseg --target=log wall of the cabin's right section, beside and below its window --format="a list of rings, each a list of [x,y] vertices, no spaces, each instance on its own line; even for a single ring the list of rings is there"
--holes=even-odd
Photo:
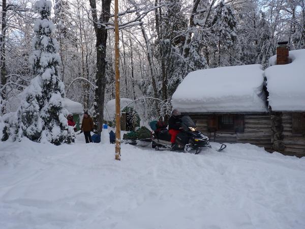
[[[285,149],[280,151],[285,155],[292,155],[297,157],[305,156],[305,136],[301,134],[292,134],[292,113],[282,113],[283,125],[283,143]]]

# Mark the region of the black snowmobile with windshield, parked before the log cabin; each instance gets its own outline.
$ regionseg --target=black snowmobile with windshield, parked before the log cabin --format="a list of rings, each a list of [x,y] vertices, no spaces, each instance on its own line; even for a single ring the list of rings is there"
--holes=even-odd
[[[209,139],[203,133],[198,131],[194,121],[189,116],[182,116],[179,123],[182,127],[177,134],[174,145],[171,144],[171,135],[166,126],[159,127],[153,133],[151,146],[156,150],[173,150],[189,152],[195,150],[195,154],[199,154],[203,148],[211,148]],[[226,148],[223,144],[218,151]]]

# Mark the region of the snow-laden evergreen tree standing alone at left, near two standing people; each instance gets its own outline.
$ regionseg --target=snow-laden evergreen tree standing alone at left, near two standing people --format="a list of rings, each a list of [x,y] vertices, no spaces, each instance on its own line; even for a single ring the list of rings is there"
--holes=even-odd
[[[67,110],[63,107],[65,86],[59,79],[58,45],[54,24],[49,20],[51,2],[39,0],[34,8],[41,15],[36,20],[33,52],[30,62],[35,78],[24,91],[24,101],[17,111],[17,138],[26,136],[34,141],[60,145],[70,143],[73,130],[68,128]]]

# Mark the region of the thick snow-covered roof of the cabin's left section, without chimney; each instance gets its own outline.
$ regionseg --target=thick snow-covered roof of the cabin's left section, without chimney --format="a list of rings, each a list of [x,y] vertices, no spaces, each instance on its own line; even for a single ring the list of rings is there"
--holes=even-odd
[[[265,112],[261,65],[198,70],[189,73],[172,96],[180,112]]]

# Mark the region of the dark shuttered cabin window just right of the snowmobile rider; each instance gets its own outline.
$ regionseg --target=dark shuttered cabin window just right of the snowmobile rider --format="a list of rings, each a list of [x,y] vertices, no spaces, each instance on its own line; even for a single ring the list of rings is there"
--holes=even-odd
[[[209,115],[207,129],[209,132],[230,131],[243,132],[245,116],[240,114]]]

